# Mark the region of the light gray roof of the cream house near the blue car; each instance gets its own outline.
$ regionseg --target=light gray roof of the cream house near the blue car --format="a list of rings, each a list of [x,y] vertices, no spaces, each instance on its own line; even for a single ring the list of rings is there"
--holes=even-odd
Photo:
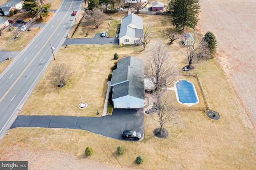
[[[134,28],[134,27],[138,27],[138,28]],[[124,18],[122,18],[120,32],[119,32],[119,39],[126,35],[134,38],[141,37],[143,39],[143,19],[141,17],[131,13],[125,16]]]

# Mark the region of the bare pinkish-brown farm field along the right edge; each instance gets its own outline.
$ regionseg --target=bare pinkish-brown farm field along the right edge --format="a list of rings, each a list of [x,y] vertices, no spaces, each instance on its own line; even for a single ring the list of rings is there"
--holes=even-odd
[[[251,123],[256,127],[255,0],[200,0],[202,32],[215,34],[219,61]]]

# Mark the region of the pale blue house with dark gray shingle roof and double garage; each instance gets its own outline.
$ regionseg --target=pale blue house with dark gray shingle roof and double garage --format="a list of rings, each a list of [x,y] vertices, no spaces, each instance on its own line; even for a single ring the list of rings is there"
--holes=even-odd
[[[110,85],[114,108],[144,108],[144,61],[133,56],[119,59]]]

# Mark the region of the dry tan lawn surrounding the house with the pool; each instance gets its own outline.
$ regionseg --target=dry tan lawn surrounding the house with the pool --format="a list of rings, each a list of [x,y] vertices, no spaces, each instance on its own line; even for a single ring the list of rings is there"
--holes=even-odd
[[[144,23],[154,21],[154,38],[160,37],[167,44],[166,34],[174,31],[170,17],[141,16]],[[100,29],[105,30],[106,27],[102,25]],[[184,47],[176,41],[169,48],[181,69],[187,64],[186,57],[180,52]],[[53,65],[51,63],[22,108],[22,113],[96,116],[96,108],[102,110],[103,107],[106,78],[115,61],[114,53],[117,52],[120,58],[134,55],[144,59],[149,49],[150,45],[146,51],[141,51],[141,47],[120,48],[115,45],[61,47],[56,54],[56,62],[70,64],[70,80],[62,89],[46,80],[45,75]],[[69,56],[76,58],[72,58],[70,62]],[[179,123],[166,126],[169,135],[160,139],[153,134],[153,130],[159,125],[145,116],[145,136],[140,142],[116,140],[83,130],[14,128],[0,140],[0,160],[28,160],[31,169],[56,169],[59,162],[64,162],[63,169],[78,169],[81,164],[86,168],[89,166],[88,161],[97,165],[88,169],[107,169],[111,166],[117,169],[165,170],[256,169],[254,130],[222,68],[216,59],[210,59],[196,64],[192,72],[198,74],[210,109],[220,114],[218,121],[209,119],[202,111],[180,111]],[[76,109],[80,103],[80,94],[88,103],[88,108],[83,111]],[[118,145],[124,147],[125,153],[122,156],[116,154]],[[90,157],[84,155],[86,146],[94,149],[94,154]],[[144,156],[143,164],[136,164],[138,155]]]

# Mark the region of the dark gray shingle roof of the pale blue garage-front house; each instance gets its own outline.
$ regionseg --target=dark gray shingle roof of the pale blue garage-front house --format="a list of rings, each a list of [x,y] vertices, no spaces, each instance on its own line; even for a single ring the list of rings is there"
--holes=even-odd
[[[118,81],[120,84],[117,84]],[[127,95],[145,99],[144,61],[133,56],[119,59],[117,69],[113,70],[110,85],[114,85],[112,99]]]

